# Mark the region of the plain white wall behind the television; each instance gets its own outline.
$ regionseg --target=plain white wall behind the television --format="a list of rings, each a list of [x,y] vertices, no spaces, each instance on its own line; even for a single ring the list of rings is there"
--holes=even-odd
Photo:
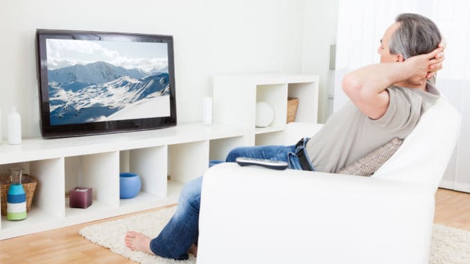
[[[303,0],[3,0],[0,108],[21,114],[23,137],[40,137],[35,29],[173,35],[178,123],[202,121],[216,73],[299,72]]]

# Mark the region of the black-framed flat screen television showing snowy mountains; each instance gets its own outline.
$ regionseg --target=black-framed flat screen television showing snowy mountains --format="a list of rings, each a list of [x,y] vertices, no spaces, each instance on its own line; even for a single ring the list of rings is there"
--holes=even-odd
[[[173,37],[37,30],[42,137],[176,125]]]

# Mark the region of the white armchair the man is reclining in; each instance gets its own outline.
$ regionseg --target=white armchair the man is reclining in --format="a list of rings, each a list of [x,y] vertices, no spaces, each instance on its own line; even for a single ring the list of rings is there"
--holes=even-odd
[[[210,168],[198,263],[428,263],[434,195],[460,122],[439,99],[373,177]],[[314,133],[305,128],[318,125],[289,125],[285,143]]]

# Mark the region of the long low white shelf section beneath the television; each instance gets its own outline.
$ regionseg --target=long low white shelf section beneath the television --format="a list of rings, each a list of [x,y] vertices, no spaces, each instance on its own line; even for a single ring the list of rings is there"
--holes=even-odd
[[[177,202],[184,183],[199,177],[209,156],[223,159],[247,145],[249,132],[236,125],[187,124],[161,130],[104,134],[69,139],[26,139],[0,145],[0,171],[20,164],[38,179],[28,218],[1,217],[0,240]],[[119,173],[141,176],[137,197],[119,199]],[[169,178],[169,179],[168,179]],[[93,188],[87,209],[69,208],[66,191]]]

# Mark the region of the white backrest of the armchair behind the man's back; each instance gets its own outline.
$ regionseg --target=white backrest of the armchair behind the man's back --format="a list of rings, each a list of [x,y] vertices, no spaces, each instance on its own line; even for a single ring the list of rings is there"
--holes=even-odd
[[[374,177],[419,182],[437,188],[458,141],[461,123],[462,116],[449,100],[439,98]]]

